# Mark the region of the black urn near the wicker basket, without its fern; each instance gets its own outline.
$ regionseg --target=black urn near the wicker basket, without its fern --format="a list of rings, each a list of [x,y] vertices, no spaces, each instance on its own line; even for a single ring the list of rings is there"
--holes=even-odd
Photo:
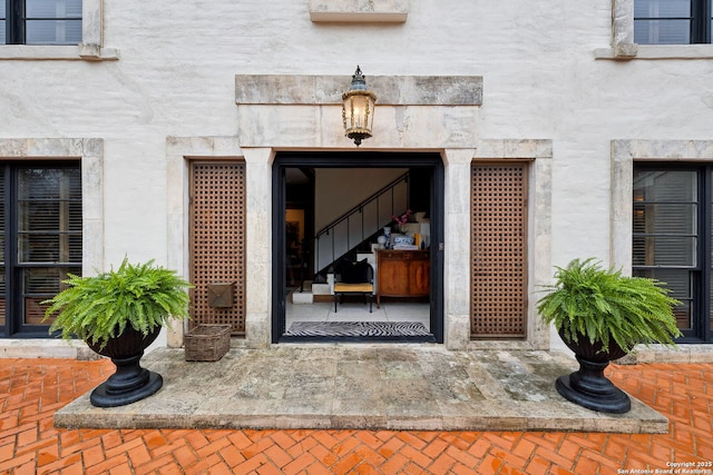
[[[143,368],[140,363],[144,350],[154,343],[160,326],[144,336],[129,325],[118,337],[110,338],[104,348],[99,344],[87,345],[99,355],[108,356],[116,365],[116,373],[97,386],[89,397],[92,406],[116,407],[135,403],[155,394],[164,384],[158,373]]]

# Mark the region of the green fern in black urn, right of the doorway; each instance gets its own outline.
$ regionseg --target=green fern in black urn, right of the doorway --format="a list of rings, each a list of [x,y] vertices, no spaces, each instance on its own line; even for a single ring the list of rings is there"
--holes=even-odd
[[[543,320],[553,324],[575,353],[579,370],[557,379],[557,390],[568,400],[589,409],[626,413],[628,396],[604,376],[611,360],[638,344],[675,345],[681,336],[664,283],[623,276],[604,269],[594,258],[574,259],[556,267],[555,284],[537,301]]]

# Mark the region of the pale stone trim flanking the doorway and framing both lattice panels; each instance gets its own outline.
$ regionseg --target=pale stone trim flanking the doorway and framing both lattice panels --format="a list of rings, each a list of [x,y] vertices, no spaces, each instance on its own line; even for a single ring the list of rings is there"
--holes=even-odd
[[[551,277],[551,140],[484,139],[469,149],[440,149],[446,172],[445,340],[449,349],[546,349],[549,328],[537,318],[533,301],[527,309],[525,340],[470,340],[469,258],[470,209],[468,189],[473,161],[526,160],[529,167],[528,295]],[[353,146],[352,146],[353,147]],[[351,147],[350,147],[351,148]],[[313,150],[320,148],[312,147]],[[271,204],[274,148],[242,147],[237,137],[168,137],[167,154],[167,257],[170,268],[188,275],[187,187],[188,159],[245,160],[246,188],[246,323],[240,345],[257,348],[271,342],[272,234]],[[466,239],[463,241],[463,239]],[[533,300],[530,298],[530,300]],[[182,324],[169,331],[168,346],[183,345]]]

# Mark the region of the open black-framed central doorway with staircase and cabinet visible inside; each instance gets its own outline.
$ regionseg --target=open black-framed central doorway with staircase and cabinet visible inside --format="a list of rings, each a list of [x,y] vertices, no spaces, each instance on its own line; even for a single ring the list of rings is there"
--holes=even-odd
[[[273,190],[273,343],[443,342],[440,155],[279,152]],[[373,289],[335,298],[361,261]]]

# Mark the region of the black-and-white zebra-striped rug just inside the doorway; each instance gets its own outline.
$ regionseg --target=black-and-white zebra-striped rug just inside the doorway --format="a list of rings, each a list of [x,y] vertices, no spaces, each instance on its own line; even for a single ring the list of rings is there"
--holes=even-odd
[[[295,321],[285,336],[393,337],[430,336],[421,323],[414,321]]]

